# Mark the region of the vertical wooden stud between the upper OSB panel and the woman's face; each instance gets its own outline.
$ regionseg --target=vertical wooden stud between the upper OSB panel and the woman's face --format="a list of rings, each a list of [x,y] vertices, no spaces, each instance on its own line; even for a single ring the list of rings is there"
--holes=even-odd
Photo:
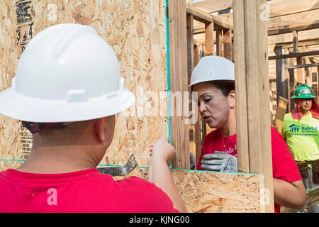
[[[169,0],[169,66],[171,91],[187,91],[187,31],[185,1]],[[173,167],[189,169],[189,126],[184,117],[172,116],[172,145],[176,149]]]

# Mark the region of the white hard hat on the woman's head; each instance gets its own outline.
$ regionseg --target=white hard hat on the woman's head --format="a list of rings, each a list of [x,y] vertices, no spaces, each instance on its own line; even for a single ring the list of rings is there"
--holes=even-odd
[[[225,57],[202,57],[191,73],[191,84],[189,84],[189,87],[213,80],[235,82],[234,63]]]

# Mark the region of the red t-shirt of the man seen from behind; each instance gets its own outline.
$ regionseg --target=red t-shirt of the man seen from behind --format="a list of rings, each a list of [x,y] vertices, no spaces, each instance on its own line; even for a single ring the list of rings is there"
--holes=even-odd
[[[96,169],[63,174],[0,172],[0,212],[175,211],[162,189],[139,177],[115,181]]]

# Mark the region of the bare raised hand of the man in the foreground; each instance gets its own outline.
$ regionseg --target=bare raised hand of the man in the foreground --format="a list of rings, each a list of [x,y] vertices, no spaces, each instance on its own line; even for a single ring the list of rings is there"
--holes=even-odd
[[[175,148],[168,143],[168,137],[165,136],[160,140],[154,140],[150,145],[150,161],[156,162],[164,160],[169,165],[176,154]]]

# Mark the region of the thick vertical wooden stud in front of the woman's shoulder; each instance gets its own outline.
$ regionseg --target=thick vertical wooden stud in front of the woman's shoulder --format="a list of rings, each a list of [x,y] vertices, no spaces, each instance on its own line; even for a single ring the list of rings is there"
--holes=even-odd
[[[245,57],[235,54],[235,84],[239,81],[245,93],[236,92],[236,104],[247,105],[247,121],[242,121],[245,114],[242,106],[236,106],[237,143],[247,143],[245,134],[248,138],[247,150],[237,150],[240,157],[249,157],[249,171],[263,173],[264,187],[269,192],[271,199],[266,205],[266,212],[274,211],[274,189],[272,183],[272,148],[270,140],[270,121],[269,110],[267,109],[269,97],[268,82],[268,60],[267,60],[267,21],[259,19],[260,6],[265,4],[265,0],[237,0],[234,1],[234,33],[235,33],[235,52],[245,46]],[[243,11],[243,13],[242,13]],[[243,23],[245,21],[245,23]],[[237,33],[238,32],[238,33]],[[249,45],[248,45],[249,44]],[[245,70],[242,69],[245,65]],[[256,79],[258,77],[258,79]],[[237,84],[236,88],[239,87]],[[239,123],[240,122],[240,123]],[[259,140],[256,140],[259,138]],[[241,141],[242,140],[242,141]],[[238,145],[239,149],[239,145]],[[238,160],[240,170],[247,169],[242,166],[245,162]]]

